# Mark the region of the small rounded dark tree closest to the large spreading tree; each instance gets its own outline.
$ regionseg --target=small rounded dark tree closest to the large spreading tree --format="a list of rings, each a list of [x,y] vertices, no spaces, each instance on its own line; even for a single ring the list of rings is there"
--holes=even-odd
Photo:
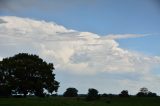
[[[67,88],[64,92],[63,96],[65,97],[77,97],[78,96],[78,90],[76,88]]]

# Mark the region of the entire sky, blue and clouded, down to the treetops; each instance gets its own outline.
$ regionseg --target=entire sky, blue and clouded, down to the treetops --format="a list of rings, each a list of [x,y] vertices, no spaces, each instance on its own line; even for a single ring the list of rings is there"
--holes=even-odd
[[[75,87],[160,94],[159,0],[0,0],[0,60],[20,52]]]

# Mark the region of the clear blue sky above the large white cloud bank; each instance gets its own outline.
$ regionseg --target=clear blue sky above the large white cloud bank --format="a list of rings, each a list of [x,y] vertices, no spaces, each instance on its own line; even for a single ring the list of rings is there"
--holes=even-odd
[[[142,52],[149,52],[149,54],[160,53],[160,47],[157,47],[160,39],[158,0],[4,1],[6,6],[4,8],[2,6],[1,16],[11,15],[54,21],[67,28],[102,36],[126,33],[150,34],[150,37],[140,40],[130,39],[119,42],[125,48],[143,49]],[[150,53],[152,51],[153,53]]]

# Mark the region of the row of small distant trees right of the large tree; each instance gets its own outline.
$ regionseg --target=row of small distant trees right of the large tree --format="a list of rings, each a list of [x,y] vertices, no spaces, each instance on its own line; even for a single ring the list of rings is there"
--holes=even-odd
[[[67,88],[63,93],[64,97],[78,97],[78,90],[76,88]],[[136,95],[129,95],[128,90],[122,90],[120,94],[99,94],[97,89],[89,88],[88,93],[83,95],[87,100],[96,100],[100,97],[158,97],[156,93],[149,91],[146,87],[140,88],[140,91]]]

